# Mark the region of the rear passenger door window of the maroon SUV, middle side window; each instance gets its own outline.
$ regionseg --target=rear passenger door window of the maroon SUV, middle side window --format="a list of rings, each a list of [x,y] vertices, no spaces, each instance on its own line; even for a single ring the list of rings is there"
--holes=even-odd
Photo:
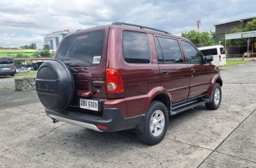
[[[180,45],[178,40],[171,38],[157,38],[158,44],[157,54],[159,56],[159,62],[164,63],[183,63],[183,56],[180,51]],[[162,56],[161,56],[162,54]],[[162,61],[164,59],[164,61]]]

